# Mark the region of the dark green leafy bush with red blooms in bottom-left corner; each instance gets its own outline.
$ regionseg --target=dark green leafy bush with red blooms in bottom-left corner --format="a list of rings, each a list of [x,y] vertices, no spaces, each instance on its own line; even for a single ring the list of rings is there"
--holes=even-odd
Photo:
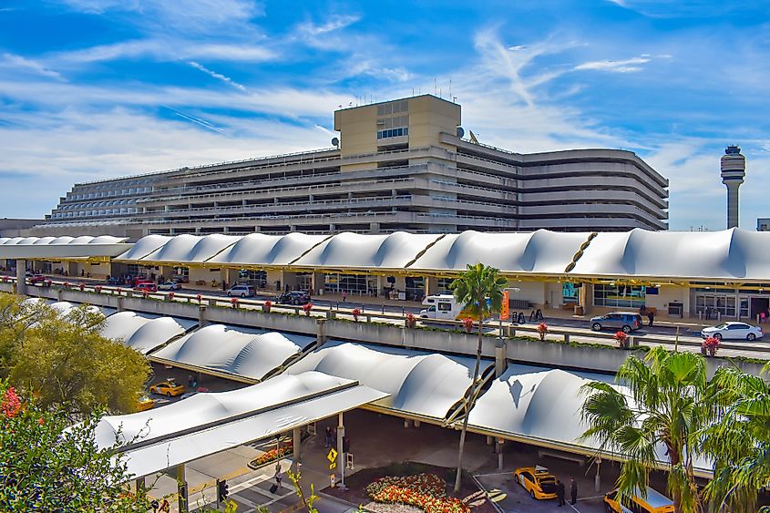
[[[75,426],[67,417],[0,381],[0,511],[148,511],[143,494],[128,493],[116,447],[95,446],[98,416]]]

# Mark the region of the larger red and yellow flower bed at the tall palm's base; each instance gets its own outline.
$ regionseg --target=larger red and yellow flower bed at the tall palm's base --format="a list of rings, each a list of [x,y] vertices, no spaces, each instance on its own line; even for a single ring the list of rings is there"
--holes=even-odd
[[[470,508],[458,498],[447,498],[447,483],[436,474],[406,477],[385,476],[366,487],[369,498],[385,504],[408,504],[426,513],[468,513]]]

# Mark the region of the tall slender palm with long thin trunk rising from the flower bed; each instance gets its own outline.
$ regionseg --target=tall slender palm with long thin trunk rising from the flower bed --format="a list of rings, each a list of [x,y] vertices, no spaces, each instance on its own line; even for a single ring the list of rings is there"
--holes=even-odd
[[[478,368],[481,365],[481,341],[482,323],[491,313],[499,312],[503,301],[503,289],[508,286],[508,281],[500,276],[499,270],[483,263],[475,265],[467,264],[466,272],[463,272],[457,280],[449,285],[455,295],[457,303],[467,304],[464,311],[470,313],[478,321],[478,345],[476,350],[476,366],[473,371],[471,392],[465,403],[465,416],[463,428],[460,431],[460,447],[457,453],[457,477],[455,477],[455,493],[460,491],[460,479],[463,471],[463,449],[466,443],[467,417],[470,406],[475,400],[474,387],[478,379]]]

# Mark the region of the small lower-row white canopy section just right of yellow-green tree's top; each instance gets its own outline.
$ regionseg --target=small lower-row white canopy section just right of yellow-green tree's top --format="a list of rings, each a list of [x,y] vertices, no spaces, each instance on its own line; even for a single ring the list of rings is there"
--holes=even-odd
[[[118,312],[102,325],[101,334],[117,339],[141,354],[148,354],[159,345],[190,330],[198,322],[175,317],[159,317],[147,313]]]

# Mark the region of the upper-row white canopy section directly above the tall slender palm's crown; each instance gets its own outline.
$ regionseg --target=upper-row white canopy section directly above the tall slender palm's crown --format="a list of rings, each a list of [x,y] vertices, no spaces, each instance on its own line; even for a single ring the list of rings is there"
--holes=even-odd
[[[539,230],[529,233],[463,231],[444,236],[409,269],[465,271],[483,262],[503,272],[563,274],[590,233]]]

